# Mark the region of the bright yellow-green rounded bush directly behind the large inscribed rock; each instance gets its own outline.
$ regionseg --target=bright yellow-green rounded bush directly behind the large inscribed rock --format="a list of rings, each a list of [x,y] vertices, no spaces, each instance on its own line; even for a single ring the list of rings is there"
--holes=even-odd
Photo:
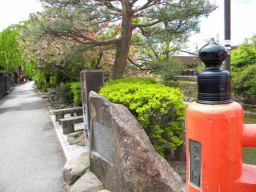
[[[99,94],[111,102],[124,104],[161,156],[182,144],[185,106],[179,89],[164,86],[152,78],[130,77],[106,83]]]

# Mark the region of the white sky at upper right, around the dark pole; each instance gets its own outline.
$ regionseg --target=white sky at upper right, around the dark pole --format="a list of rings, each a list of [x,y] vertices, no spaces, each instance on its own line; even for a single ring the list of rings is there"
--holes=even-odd
[[[245,38],[251,38],[256,35],[256,1],[230,0],[230,2],[231,45],[243,44]],[[196,45],[200,49],[206,44],[205,39],[210,38],[219,39],[220,44],[224,45],[224,0],[216,0],[216,4],[218,8],[210,13],[209,17],[202,18],[200,33],[189,38],[190,50],[188,49],[188,51],[195,51]]]

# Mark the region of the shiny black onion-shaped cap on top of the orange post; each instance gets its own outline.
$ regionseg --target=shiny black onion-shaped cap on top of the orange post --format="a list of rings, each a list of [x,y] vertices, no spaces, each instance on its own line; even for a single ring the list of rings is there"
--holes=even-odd
[[[199,51],[205,69],[198,73],[198,93],[196,102],[201,104],[227,104],[232,102],[230,93],[230,73],[221,68],[227,58],[227,49],[211,38]]]

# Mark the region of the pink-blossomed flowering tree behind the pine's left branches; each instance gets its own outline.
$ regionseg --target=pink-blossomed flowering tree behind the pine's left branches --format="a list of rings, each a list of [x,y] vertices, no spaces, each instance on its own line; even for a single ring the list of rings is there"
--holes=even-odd
[[[31,15],[31,20],[23,25],[19,42],[24,58],[33,63],[31,66],[34,68],[44,71],[48,76],[59,74],[77,80],[81,70],[109,70],[114,60],[111,47],[92,47],[72,39],[54,36],[38,38],[30,35],[33,22],[35,18]],[[110,26],[108,29],[111,35],[118,31],[118,25]]]

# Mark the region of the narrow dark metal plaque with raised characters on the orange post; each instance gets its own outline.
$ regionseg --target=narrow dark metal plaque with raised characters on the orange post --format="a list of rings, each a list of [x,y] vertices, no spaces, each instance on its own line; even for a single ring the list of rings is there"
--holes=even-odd
[[[202,144],[189,139],[189,181],[201,188]]]

